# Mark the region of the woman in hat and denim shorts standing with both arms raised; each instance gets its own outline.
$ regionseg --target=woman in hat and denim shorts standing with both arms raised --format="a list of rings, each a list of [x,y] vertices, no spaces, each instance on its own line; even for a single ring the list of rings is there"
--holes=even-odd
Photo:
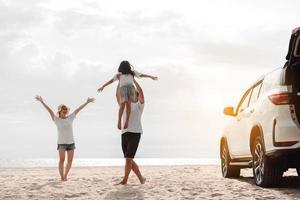
[[[58,106],[58,112],[56,116],[54,112],[49,108],[49,106],[43,101],[41,96],[36,96],[35,99],[46,108],[49,112],[51,119],[57,126],[58,140],[57,140],[57,150],[59,153],[59,164],[58,170],[62,181],[67,181],[68,173],[72,166],[72,161],[74,157],[75,142],[73,137],[73,121],[76,115],[81,109],[83,109],[87,104],[94,102],[95,99],[88,98],[87,101],[77,108],[72,114],[69,114],[69,108],[61,104]],[[64,168],[65,154],[67,152],[67,164]]]

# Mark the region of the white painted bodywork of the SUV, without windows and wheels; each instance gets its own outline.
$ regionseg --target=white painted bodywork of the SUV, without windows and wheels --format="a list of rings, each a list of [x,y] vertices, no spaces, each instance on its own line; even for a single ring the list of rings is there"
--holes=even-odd
[[[247,92],[250,90],[247,107],[243,111],[240,111],[239,107],[237,107],[236,116],[233,116],[222,134],[222,137],[227,140],[232,159],[252,158],[250,140],[251,132],[254,127],[259,127],[262,131],[267,154],[280,149],[300,148],[299,124],[293,119],[290,108],[291,105],[275,105],[269,98],[272,94],[289,92],[288,88],[290,86],[283,86],[279,83],[282,74],[283,69],[277,69],[255,82],[255,84],[247,90]],[[271,78],[269,78],[269,76],[271,76]],[[277,82],[274,78],[278,78]],[[274,81],[273,88],[264,90],[264,84],[268,84],[269,79]],[[275,82],[277,84],[275,84]],[[251,89],[257,84],[259,84],[258,87],[261,87],[259,89],[258,98],[251,95]],[[253,98],[255,99],[251,101]],[[290,146],[278,147],[276,145],[276,143],[291,141],[298,142]]]

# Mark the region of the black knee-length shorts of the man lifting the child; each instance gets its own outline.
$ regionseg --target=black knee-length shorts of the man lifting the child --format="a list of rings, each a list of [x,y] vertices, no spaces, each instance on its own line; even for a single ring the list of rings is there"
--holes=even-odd
[[[141,133],[122,134],[122,150],[125,158],[134,158],[141,139]]]

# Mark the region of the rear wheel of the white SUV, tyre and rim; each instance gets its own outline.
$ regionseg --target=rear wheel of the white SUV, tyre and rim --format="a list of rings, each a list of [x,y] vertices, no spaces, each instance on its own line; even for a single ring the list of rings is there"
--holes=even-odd
[[[261,187],[274,187],[280,185],[283,170],[272,166],[265,154],[265,148],[258,136],[252,148],[252,169],[255,184]]]

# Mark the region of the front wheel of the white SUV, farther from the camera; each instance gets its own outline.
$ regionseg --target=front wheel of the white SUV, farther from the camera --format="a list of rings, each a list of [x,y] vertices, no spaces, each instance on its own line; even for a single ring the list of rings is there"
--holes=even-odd
[[[238,178],[241,169],[236,166],[230,166],[230,154],[226,143],[221,145],[221,170],[224,178]]]

